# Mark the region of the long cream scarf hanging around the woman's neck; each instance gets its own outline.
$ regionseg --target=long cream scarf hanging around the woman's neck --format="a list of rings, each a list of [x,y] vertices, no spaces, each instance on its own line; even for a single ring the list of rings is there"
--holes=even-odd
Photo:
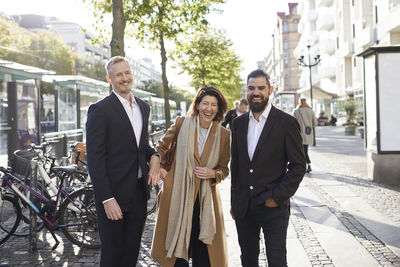
[[[192,231],[192,216],[194,206],[195,167],[194,145],[199,125],[196,117],[186,117],[179,131],[176,147],[176,165],[174,184],[172,186],[171,205],[169,208],[167,236],[165,248],[167,257],[184,258],[188,260],[190,233]],[[212,125],[210,126],[212,127]],[[197,134],[198,136],[198,134]],[[210,152],[206,167],[214,169],[218,165],[221,125],[217,124],[213,149]],[[207,136],[207,139],[210,136]],[[207,140],[205,141],[205,143]],[[199,239],[211,245],[216,233],[214,203],[209,180],[201,180],[200,193],[200,235]]]

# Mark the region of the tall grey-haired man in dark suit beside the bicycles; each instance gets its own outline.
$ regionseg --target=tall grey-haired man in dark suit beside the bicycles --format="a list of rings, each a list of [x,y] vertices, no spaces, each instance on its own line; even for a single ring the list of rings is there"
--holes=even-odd
[[[136,266],[146,220],[147,185],[155,185],[160,178],[160,158],[148,141],[150,107],[131,92],[129,63],[124,57],[113,57],[106,70],[113,91],[89,107],[86,123],[100,265]]]

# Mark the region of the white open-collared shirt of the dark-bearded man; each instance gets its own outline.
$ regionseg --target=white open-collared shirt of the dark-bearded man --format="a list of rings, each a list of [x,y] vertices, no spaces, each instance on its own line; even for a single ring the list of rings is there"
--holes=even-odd
[[[258,139],[262,130],[264,129],[265,122],[267,121],[269,112],[271,111],[271,103],[268,103],[264,112],[258,117],[258,121],[254,118],[253,112],[249,113],[249,128],[247,131],[247,151],[250,160],[253,160],[254,151],[256,150]]]

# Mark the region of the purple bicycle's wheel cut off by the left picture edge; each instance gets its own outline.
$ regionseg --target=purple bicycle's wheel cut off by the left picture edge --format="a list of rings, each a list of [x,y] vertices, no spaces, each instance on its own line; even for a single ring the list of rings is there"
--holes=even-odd
[[[10,195],[0,199],[0,245],[6,242],[17,229],[21,220],[21,208],[17,200]]]

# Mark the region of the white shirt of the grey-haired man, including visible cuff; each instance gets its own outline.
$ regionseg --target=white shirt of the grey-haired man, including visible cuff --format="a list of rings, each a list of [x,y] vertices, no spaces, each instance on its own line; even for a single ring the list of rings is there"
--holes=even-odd
[[[140,136],[142,134],[142,128],[143,128],[143,119],[142,119],[142,111],[140,110],[139,104],[136,102],[136,99],[132,93],[131,94],[131,103],[129,103],[128,100],[120,96],[117,92],[114,90],[112,91],[119,99],[121,102],[122,106],[125,109],[126,115],[128,115],[129,121],[131,122],[133,133],[136,138],[136,144],[139,147],[140,144]],[[142,177],[142,170],[138,169],[138,178]],[[114,199],[114,198],[109,198],[103,201],[103,204],[106,203],[107,201]]]

